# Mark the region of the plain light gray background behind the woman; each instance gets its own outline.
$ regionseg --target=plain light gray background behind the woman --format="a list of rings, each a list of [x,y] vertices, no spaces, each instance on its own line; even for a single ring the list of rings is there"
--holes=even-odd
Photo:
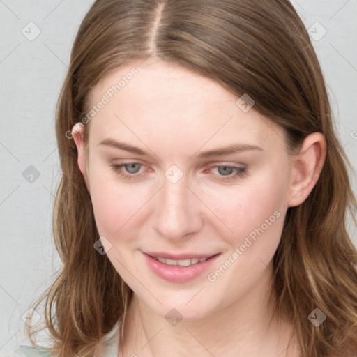
[[[54,109],[75,33],[91,3],[0,0],[0,356],[26,344],[21,317],[59,268],[52,244],[52,206],[60,179]],[[293,3],[315,38],[337,130],[356,169],[357,1]],[[31,38],[36,31],[38,37]],[[31,172],[23,176],[30,165],[40,174],[32,183],[26,176]],[[356,244],[356,231],[350,232]]]

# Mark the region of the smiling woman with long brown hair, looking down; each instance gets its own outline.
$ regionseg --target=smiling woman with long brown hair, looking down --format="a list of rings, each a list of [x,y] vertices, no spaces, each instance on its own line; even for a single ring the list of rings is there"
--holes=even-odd
[[[54,343],[24,354],[357,354],[356,201],[289,1],[96,1],[56,137]]]

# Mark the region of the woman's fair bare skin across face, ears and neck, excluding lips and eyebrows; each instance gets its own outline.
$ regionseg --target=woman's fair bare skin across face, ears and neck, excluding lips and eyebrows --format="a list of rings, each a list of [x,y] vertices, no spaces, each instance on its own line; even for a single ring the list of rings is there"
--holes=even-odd
[[[301,152],[289,155],[283,128],[254,107],[243,112],[238,96],[211,79],[160,61],[117,68],[94,88],[93,105],[133,66],[137,75],[86,124],[88,151],[84,126],[73,130],[98,231],[112,244],[107,257],[134,291],[123,356],[299,356],[291,324],[271,319],[272,258],[287,208],[301,204],[317,181],[324,136],[309,135]],[[147,155],[100,145],[109,137]],[[261,150],[198,158],[234,143]],[[138,178],[111,167],[128,162],[142,164]],[[183,173],[177,183],[165,177],[171,165]],[[214,165],[245,167],[245,174]],[[280,217],[209,281],[274,212]],[[149,270],[145,251],[221,255],[195,280],[173,283]],[[176,326],[165,319],[173,308],[183,316]]]

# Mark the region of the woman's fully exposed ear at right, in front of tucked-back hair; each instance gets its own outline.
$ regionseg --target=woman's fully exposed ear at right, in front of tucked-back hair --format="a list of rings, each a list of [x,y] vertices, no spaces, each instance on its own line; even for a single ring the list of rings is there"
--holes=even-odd
[[[319,179],[326,158],[326,140],[321,132],[308,135],[292,160],[288,207],[302,204]]]

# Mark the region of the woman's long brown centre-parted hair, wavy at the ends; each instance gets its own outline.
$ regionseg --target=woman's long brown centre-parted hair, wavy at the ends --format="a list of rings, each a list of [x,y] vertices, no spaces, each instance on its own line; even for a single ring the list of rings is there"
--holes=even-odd
[[[93,356],[117,321],[125,338],[132,291],[107,256],[93,249],[99,236],[91,197],[68,133],[89,112],[100,79],[149,56],[209,77],[237,96],[249,93],[255,109],[286,130],[291,150],[312,132],[323,133],[327,155],[319,180],[303,204],[288,209],[273,258],[275,312],[291,319],[303,356],[357,354],[357,255],[345,227],[356,210],[349,162],[319,61],[288,0],[93,3],[75,38],[56,112],[62,179],[53,229],[63,268],[34,305],[45,302],[42,328],[53,337],[52,353]],[[315,308],[326,314],[319,327],[308,319]],[[29,335],[35,332],[29,328]]]

